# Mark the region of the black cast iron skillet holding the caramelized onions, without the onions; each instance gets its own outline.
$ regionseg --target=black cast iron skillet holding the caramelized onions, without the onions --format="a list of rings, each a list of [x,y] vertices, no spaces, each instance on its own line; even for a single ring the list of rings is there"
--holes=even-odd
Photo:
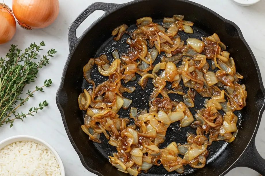
[[[104,10],[105,14],[96,20],[80,38],[76,37],[76,29],[95,10]],[[152,17],[155,22],[159,22],[163,17],[172,17],[174,14],[184,15],[186,20],[195,23],[195,34],[182,35],[182,39],[188,37],[200,38],[201,36],[217,33],[222,42],[228,46],[230,56],[234,57],[237,72],[244,76],[241,83],[246,85],[248,92],[247,106],[240,112],[239,133],[232,143],[213,142],[209,147],[210,155],[207,165],[203,169],[192,169],[186,167],[184,175],[225,175],[235,167],[249,167],[255,169],[260,174],[265,175],[265,160],[259,155],[255,146],[255,136],[260,124],[262,112],[264,111],[264,87],[258,64],[250,50],[248,44],[236,24],[228,21],[211,11],[210,9],[186,0],[136,0],[125,4],[94,3],[87,7],[75,19],[69,28],[69,56],[62,74],[61,85],[56,94],[56,102],[62,115],[62,120],[68,137],[77,151],[84,167],[97,175],[126,175],[117,171],[108,162],[107,156],[115,151],[114,147],[106,144],[94,144],[88,140],[88,136],[81,130],[83,115],[77,103],[77,97],[83,88],[89,85],[83,79],[83,66],[89,58],[99,56],[102,53],[108,55],[117,48],[119,53],[126,52],[128,46],[123,36],[120,42],[114,42],[111,31],[121,24],[131,25],[129,30],[133,30],[136,19],[144,16]],[[160,58],[160,57],[159,57]],[[106,80],[98,74],[97,69],[92,71],[92,79],[96,84]],[[136,91],[132,94],[125,94],[133,100],[132,107],[144,109],[148,102],[148,92],[144,92],[135,82]],[[150,85],[148,85],[150,88]],[[150,93],[150,92],[149,92]],[[197,95],[196,107],[202,107],[202,98]],[[194,111],[192,111],[194,115]],[[128,116],[127,111],[119,112],[123,118]],[[171,124],[167,131],[167,140],[164,144],[176,141],[185,143],[186,132],[191,128],[179,128],[178,123]],[[193,130],[194,132],[194,130]],[[104,139],[102,137],[101,139]],[[162,166],[152,167],[148,174],[142,175],[178,175],[176,172],[168,173]]]

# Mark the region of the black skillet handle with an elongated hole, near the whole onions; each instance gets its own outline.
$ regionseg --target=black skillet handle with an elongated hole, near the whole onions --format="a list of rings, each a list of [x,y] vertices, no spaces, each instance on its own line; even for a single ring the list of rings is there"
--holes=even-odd
[[[76,29],[80,24],[89,16],[91,13],[93,13],[96,10],[103,10],[105,13],[99,18],[102,19],[118,9],[119,7],[122,7],[123,4],[113,4],[113,3],[102,3],[102,2],[96,2],[91,4],[89,7],[87,7],[76,19],[75,21],[70,25],[68,29],[68,39],[69,39],[69,51],[70,53],[73,52],[76,45],[81,41],[83,36],[85,36],[85,32],[77,38],[76,36]],[[93,24],[92,24],[93,25]],[[92,26],[91,25],[91,26]],[[88,27],[89,28],[89,27]],[[86,29],[86,31],[88,30]]]

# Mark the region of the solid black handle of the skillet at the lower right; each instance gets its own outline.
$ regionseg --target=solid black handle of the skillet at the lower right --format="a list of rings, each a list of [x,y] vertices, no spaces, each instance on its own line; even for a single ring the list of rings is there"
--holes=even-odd
[[[235,167],[248,167],[265,176],[265,159],[260,156],[256,148],[255,138],[251,140],[241,157],[237,160]]]

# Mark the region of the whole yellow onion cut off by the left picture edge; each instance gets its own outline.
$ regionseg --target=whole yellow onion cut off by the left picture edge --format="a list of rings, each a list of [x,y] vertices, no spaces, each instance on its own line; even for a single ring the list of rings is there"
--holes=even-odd
[[[4,3],[0,3],[0,44],[11,40],[15,33],[16,20],[12,10]]]

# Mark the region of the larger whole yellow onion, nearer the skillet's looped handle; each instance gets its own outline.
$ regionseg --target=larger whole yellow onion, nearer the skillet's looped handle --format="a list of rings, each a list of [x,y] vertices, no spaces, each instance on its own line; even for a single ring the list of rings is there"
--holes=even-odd
[[[13,13],[24,29],[40,29],[52,24],[59,14],[58,0],[13,0]]]

